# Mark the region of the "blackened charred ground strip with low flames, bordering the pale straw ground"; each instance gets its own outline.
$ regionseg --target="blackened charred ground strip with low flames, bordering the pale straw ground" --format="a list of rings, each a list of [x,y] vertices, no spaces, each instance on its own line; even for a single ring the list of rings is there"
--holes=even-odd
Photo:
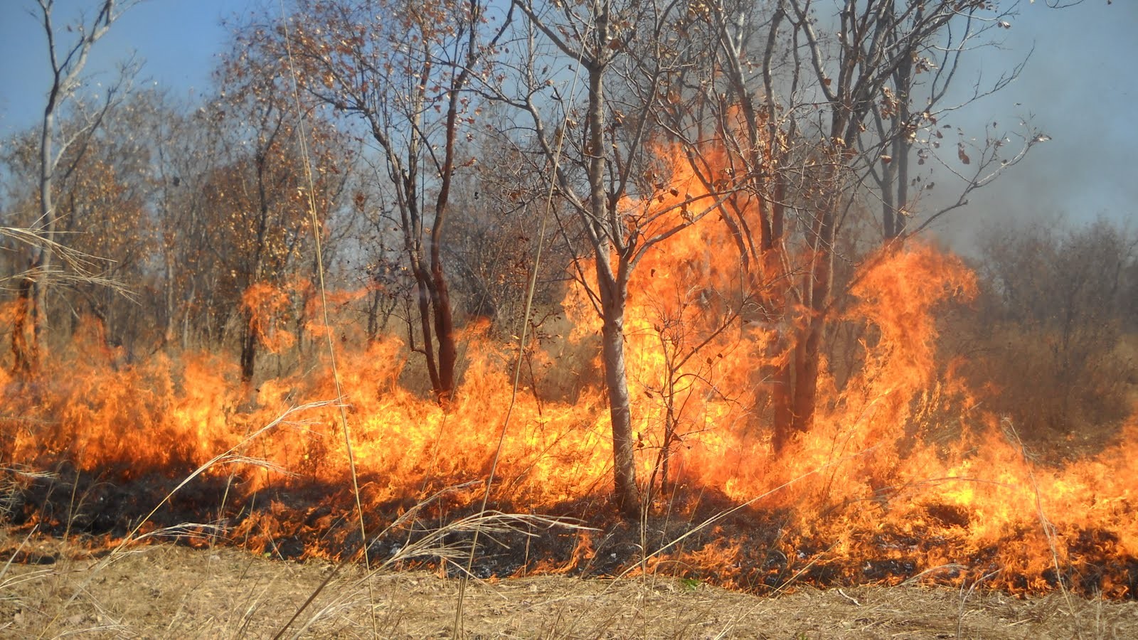
[[[53,477],[18,483],[19,491],[13,492],[8,501],[8,522],[15,534],[34,528],[40,535],[72,536],[91,548],[106,549],[134,532],[141,519],[162,504],[148,522],[141,523],[135,538],[176,527],[171,535],[176,534],[179,543],[191,547],[220,542],[292,560],[361,558],[358,515],[352,492],[346,489],[351,483],[327,485],[294,479],[250,493],[240,482],[200,476],[174,492],[183,477],[157,473],[124,477],[109,470],[77,474],[61,467]],[[407,545],[478,512],[480,506],[477,486],[444,491],[420,504],[412,498],[376,499],[371,494],[380,486],[378,481],[361,478],[361,485],[372,564],[398,557]],[[734,504],[709,491],[702,491],[698,500],[687,498],[691,500],[683,515],[657,512],[633,523],[616,517],[616,509],[601,497],[543,509],[542,516],[566,518],[587,528],[519,522],[514,531],[483,534],[471,571],[479,579],[533,573],[608,577],[646,567],[657,574],[773,593],[794,584],[897,584],[917,575],[924,582],[971,584],[998,568],[995,563],[1000,545],[993,545],[958,558],[951,566],[927,571],[931,567],[922,566],[921,558],[947,541],[934,533],[914,535],[888,526],[867,534],[868,551],[860,557],[841,557],[831,553],[832,541],[791,531],[786,512],[732,510]],[[509,503],[492,503],[489,508],[530,512],[528,507]],[[968,518],[966,512],[948,506],[933,504],[927,511],[930,522],[942,525],[963,526]],[[402,523],[393,527],[401,516]],[[223,533],[218,535],[193,523],[221,525]],[[470,531],[454,531],[440,542],[461,545],[469,543],[472,535]],[[1082,531],[1061,553],[1077,558],[1078,566],[1061,565],[1061,571],[1052,568],[1039,576],[1001,574],[984,586],[1038,592],[1057,589],[1062,581],[1064,588],[1078,593],[1138,598],[1138,559],[1119,556],[1116,542],[1112,532]],[[1016,540],[1006,543],[1015,545]],[[665,551],[657,552],[661,549]],[[3,559],[13,553],[24,553],[17,560],[27,564],[52,560],[13,549]],[[463,571],[460,565],[463,563],[444,563],[431,553],[398,564],[401,568],[430,567],[446,574]]]

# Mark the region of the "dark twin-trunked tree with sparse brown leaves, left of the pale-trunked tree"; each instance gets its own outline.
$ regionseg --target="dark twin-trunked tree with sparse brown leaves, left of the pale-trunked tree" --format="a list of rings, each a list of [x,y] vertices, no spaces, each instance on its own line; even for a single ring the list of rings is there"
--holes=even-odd
[[[291,51],[308,96],[357,118],[378,146],[381,178],[395,199],[395,223],[414,277],[419,334],[437,400],[455,389],[454,313],[443,245],[457,157],[475,122],[469,84],[488,73],[498,35],[483,36],[481,0],[298,0],[292,17],[272,30],[248,30],[257,46]]]

